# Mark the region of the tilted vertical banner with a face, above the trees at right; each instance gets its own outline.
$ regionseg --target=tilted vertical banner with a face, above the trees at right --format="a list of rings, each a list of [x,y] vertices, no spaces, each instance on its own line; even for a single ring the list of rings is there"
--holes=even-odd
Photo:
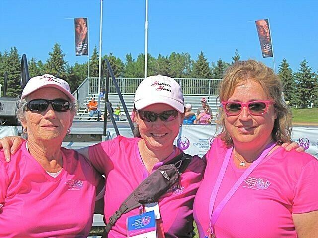
[[[263,58],[273,57],[272,41],[268,19],[255,21]]]

